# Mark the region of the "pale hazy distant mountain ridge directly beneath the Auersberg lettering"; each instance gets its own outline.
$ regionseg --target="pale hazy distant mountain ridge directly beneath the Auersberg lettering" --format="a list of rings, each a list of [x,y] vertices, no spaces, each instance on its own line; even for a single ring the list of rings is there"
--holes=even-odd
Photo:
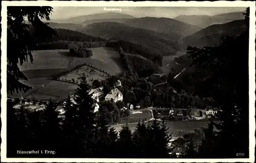
[[[106,12],[106,13],[99,13],[99,14],[90,14],[90,15],[81,15],[81,16],[75,16],[67,19],[58,19],[54,20],[55,22],[61,22],[61,23],[76,23],[81,24],[82,22],[86,20],[95,20],[95,19],[109,19],[109,18],[135,18],[134,16],[127,15],[127,14],[120,14],[115,12]]]

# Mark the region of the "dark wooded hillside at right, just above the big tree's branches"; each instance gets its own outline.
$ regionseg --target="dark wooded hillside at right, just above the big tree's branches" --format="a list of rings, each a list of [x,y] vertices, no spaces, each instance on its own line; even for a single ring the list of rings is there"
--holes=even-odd
[[[223,35],[240,35],[245,31],[244,20],[234,20],[225,24],[210,25],[207,28],[183,38],[183,48],[188,45],[204,47],[218,46]]]

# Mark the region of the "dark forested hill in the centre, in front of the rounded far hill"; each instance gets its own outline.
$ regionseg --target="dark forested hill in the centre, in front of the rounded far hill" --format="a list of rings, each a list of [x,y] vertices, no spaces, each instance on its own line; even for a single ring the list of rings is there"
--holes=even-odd
[[[155,31],[138,29],[117,22],[93,23],[80,32],[113,41],[129,41],[141,46],[154,48],[162,56],[175,55],[180,46],[175,43],[180,36],[176,33],[166,35]],[[168,39],[168,40],[167,40]]]

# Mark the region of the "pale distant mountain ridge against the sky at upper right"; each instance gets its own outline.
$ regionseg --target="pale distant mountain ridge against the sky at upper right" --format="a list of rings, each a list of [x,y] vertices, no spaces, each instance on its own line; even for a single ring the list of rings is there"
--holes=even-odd
[[[225,14],[218,14],[214,16],[209,15],[180,15],[175,17],[174,19],[183,21],[192,25],[197,25],[202,28],[206,28],[207,26],[213,24],[222,24],[227,23],[233,20],[244,19],[243,12],[232,12]]]

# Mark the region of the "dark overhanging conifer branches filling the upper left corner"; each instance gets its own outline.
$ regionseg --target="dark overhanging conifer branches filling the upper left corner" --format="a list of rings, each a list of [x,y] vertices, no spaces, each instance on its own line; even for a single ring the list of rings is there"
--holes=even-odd
[[[50,20],[52,7],[39,6],[11,6],[7,7],[7,91],[28,91],[31,87],[24,85],[18,79],[27,79],[20,72],[18,63],[33,62],[32,50],[36,38],[56,36],[56,32],[39,18]],[[27,24],[25,21],[27,17]],[[30,31],[32,29],[33,35]]]

